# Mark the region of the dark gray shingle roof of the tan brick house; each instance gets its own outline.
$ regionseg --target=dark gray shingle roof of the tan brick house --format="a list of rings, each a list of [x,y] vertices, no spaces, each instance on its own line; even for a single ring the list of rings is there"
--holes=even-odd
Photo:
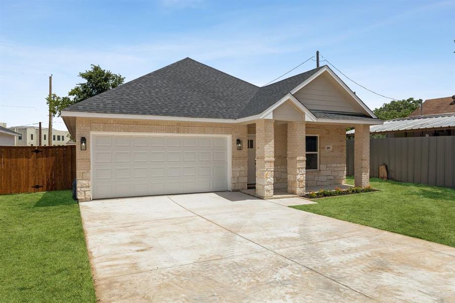
[[[190,58],[85,99],[65,111],[239,119],[261,114],[324,66],[258,87]],[[321,112],[327,119],[372,119]],[[377,119],[374,119],[377,121]]]

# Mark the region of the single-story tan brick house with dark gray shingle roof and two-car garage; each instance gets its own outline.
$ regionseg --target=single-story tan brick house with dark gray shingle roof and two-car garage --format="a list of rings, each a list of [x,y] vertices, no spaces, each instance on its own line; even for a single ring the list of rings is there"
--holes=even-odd
[[[341,184],[355,127],[358,186],[382,124],[328,67],[258,87],[190,58],[62,111],[76,140],[77,196],[244,190],[302,194]]]

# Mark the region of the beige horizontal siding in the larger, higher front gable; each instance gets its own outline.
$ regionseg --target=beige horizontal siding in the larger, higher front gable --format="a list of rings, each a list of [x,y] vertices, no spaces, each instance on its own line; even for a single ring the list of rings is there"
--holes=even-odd
[[[349,102],[348,97],[337,90],[323,75],[294,93],[294,96],[309,110],[361,112],[358,106],[355,107]]]

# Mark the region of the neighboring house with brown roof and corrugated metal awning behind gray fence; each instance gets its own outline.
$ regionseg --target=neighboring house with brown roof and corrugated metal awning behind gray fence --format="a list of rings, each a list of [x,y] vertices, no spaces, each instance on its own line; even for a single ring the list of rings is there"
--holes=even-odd
[[[409,117],[387,120],[383,125],[372,125],[370,132],[385,134],[388,138],[454,136],[455,95],[428,99]],[[348,136],[354,133],[355,130],[346,132]]]

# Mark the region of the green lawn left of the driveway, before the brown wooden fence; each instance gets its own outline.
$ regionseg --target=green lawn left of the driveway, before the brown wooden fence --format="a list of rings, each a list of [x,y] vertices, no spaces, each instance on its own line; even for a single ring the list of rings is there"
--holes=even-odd
[[[0,195],[0,247],[0,301],[96,301],[71,191]]]

